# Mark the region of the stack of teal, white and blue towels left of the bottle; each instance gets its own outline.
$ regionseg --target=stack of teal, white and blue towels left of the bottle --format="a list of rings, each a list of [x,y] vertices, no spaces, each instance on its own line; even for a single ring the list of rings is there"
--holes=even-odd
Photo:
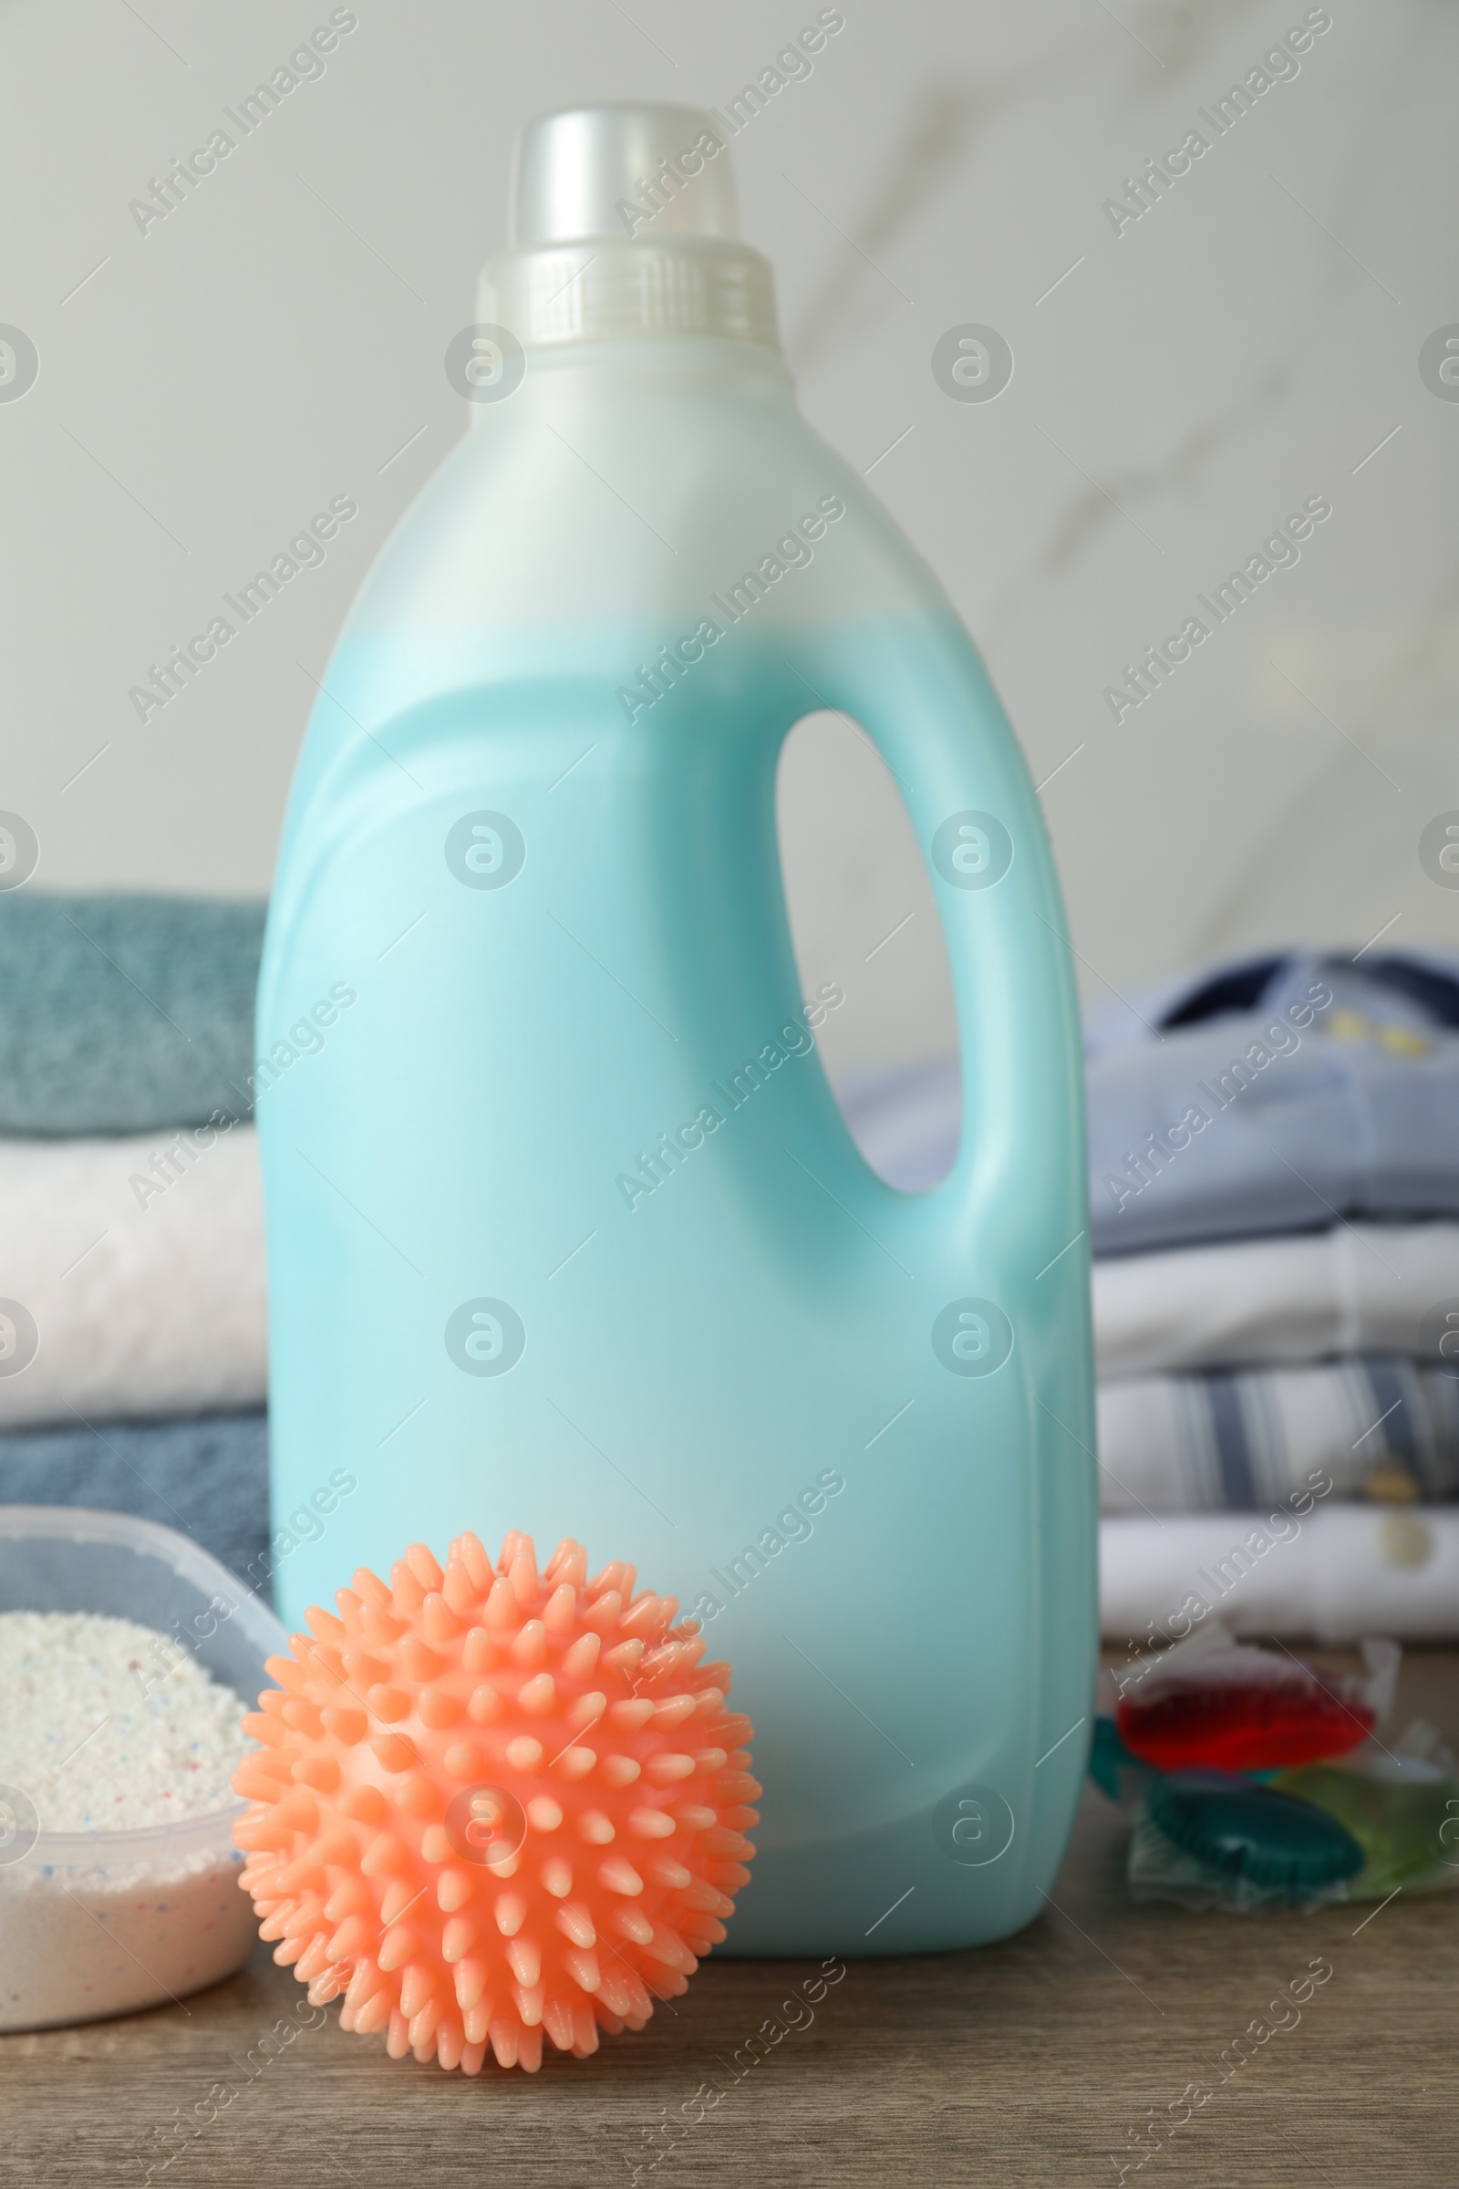
[[[0,895],[0,1502],[140,1513],[236,1572],[267,1548],[262,919]]]

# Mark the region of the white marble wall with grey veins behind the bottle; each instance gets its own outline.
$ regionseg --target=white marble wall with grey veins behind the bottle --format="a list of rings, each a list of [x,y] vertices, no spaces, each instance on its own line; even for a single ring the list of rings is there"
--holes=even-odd
[[[724,101],[816,7],[352,13],[326,72],[147,234],[129,201],[328,4],[0,13],[0,322],[39,357],[0,401],[0,806],[35,827],[42,882],[267,887],[311,679],[464,425],[442,352],[503,239],[518,125]],[[735,142],[744,225],[807,414],[875,464],[984,646],[1085,992],[1288,937],[1459,943],[1459,891],[1417,849],[1459,810],[1459,403],[1420,377],[1459,322],[1459,13],[1332,0],[1225,136],[1199,109],[1302,0],[842,13]],[[1105,201],[1190,129],[1210,149],[1116,232]],[[967,322],[1013,350],[989,403],[932,372]],[[335,495],[359,519],[324,567],[140,722],[149,663]],[[1116,722],[1122,663],[1317,495],[1302,560]],[[925,882],[866,749],[809,725],[783,808],[807,970],[851,998],[833,1062],[945,1046]]]

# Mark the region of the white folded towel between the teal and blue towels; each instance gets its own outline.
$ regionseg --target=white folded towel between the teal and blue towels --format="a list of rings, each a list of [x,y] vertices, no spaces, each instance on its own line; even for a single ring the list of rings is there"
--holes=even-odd
[[[0,1140],[0,1429],[262,1405],[258,1136]]]

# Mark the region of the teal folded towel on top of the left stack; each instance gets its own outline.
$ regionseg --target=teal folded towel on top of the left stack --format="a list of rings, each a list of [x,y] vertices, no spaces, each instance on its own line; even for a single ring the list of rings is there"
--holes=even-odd
[[[0,1132],[249,1114],[262,902],[0,895]]]

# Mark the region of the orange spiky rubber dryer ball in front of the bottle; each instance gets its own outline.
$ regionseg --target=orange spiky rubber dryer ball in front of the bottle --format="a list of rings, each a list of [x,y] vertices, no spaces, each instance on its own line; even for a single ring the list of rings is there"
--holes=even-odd
[[[262,1937],[315,2005],[477,2075],[641,2029],[724,1937],[759,1795],[728,1666],[634,1567],[416,1543],[271,1657],[234,1775]]]

